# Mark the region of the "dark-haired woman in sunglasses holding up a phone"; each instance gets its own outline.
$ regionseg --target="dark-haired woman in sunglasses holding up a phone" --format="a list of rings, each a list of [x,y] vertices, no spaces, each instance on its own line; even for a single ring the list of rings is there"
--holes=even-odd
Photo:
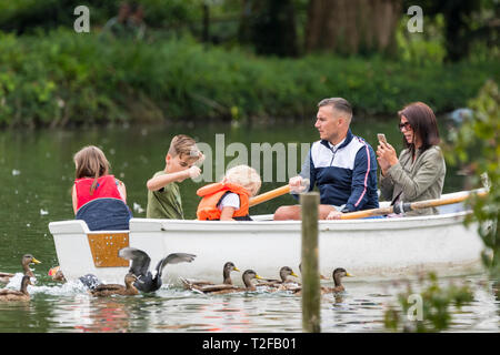
[[[389,143],[380,142],[377,161],[381,168],[380,190],[391,204],[441,197],[447,172],[438,146],[436,115],[423,102],[414,102],[398,112],[399,129],[406,149],[397,158]],[[438,214],[436,209],[422,209],[407,215]]]

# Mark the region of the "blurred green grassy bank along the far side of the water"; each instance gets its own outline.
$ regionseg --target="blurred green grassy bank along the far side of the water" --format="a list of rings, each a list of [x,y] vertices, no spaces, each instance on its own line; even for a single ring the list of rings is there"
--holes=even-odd
[[[0,124],[310,118],[326,97],[350,100],[358,114],[393,114],[417,100],[446,112],[464,106],[499,74],[493,59],[424,67],[331,55],[283,60],[188,39],[0,33]]]

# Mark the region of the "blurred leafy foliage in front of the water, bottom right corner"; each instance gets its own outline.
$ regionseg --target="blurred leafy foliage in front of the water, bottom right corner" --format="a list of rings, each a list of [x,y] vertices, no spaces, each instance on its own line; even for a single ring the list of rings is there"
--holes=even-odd
[[[420,284],[428,285],[417,293],[408,284],[407,291],[398,295],[399,307],[391,306],[386,311],[386,328],[418,333],[446,331],[452,322],[450,307],[456,306],[460,310],[473,301],[473,293],[468,285],[457,286],[451,283],[447,287],[441,287],[434,273],[429,273],[427,280],[420,280]],[[409,302],[411,295],[421,297],[421,310],[417,311],[417,302]],[[421,312],[420,320],[419,312]],[[408,318],[409,313],[414,316],[414,321]]]

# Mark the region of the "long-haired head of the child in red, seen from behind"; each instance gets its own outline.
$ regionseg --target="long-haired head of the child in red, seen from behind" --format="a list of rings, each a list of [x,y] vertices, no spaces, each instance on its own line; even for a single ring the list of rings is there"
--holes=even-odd
[[[88,145],[82,148],[73,156],[76,165],[76,178],[100,178],[108,175],[110,170],[110,164],[106,159],[104,153],[94,146]]]

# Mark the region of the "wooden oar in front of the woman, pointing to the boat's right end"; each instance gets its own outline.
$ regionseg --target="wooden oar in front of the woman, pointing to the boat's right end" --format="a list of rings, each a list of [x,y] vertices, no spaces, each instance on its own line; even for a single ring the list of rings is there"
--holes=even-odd
[[[371,216],[384,215],[384,214],[391,214],[391,213],[400,214],[400,213],[414,211],[414,210],[419,210],[419,209],[429,209],[429,207],[442,206],[446,204],[463,202],[473,194],[477,194],[478,196],[482,197],[488,194],[488,191],[486,189],[478,189],[478,190],[472,190],[467,193],[460,194],[458,196],[452,196],[452,197],[398,203],[398,204],[389,206],[389,207],[349,212],[349,213],[343,213],[340,219],[341,220],[356,220],[356,219],[364,219],[364,217],[371,217]]]

